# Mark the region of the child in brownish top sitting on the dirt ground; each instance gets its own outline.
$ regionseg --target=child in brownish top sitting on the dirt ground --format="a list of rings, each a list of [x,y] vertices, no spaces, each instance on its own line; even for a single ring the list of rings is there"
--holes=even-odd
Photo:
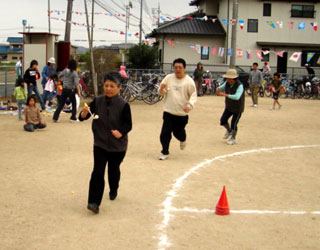
[[[36,106],[36,98],[34,95],[28,97],[24,115],[26,122],[24,125],[25,131],[33,132],[35,129],[42,129],[47,126],[40,115],[39,108]]]

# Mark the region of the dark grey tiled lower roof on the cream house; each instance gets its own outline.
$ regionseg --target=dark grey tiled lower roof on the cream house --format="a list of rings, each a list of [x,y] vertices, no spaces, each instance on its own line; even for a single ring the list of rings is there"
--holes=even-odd
[[[183,17],[162,24],[148,36],[155,37],[158,34],[225,36],[226,32],[218,19],[212,22]]]

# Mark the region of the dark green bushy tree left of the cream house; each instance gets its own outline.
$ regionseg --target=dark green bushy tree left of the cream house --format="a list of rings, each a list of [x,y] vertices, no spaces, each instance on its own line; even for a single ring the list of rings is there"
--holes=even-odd
[[[127,56],[131,68],[154,69],[158,67],[158,49],[145,43],[131,47]]]

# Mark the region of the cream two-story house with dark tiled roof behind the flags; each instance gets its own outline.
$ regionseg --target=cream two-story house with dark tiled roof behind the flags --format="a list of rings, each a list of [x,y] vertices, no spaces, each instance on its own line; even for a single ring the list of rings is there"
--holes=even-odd
[[[151,36],[156,37],[159,50],[162,53],[161,63],[170,63],[173,57],[181,56],[187,59],[190,64],[201,61],[207,65],[229,64],[230,56],[228,49],[231,47],[232,39],[232,0],[193,0],[190,5],[197,6],[199,12],[187,15],[179,20],[168,22],[153,30]],[[319,67],[320,56],[320,1],[283,1],[283,0],[239,0],[238,18],[236,26],[236,50],[242,50],[242,54],[236,56],[236,65],[249,66],[253,62],[268,61],[278,72],[292,73],[288,68],[301,68],[307,63],[307,54],[313,57],[308,63],[313,67]],[[208,21],[196,19],[197,16],[206,16]],[[192,19],[191,19],[192,18]],[[215,23],[210,22],[217,19]],[[243,28],[240,28],[241,20]],[[191,22],[197,23],[198,27]],[[190,33],[185,32],[184,37],[178,35],[184,23],[190,23]],[[221,25],[220,33],[217,30],[211,32],[204,31],[200,36],[196,31],[203,30],[208,25]],[[186,26],[186,25],[184,25]],[[172,31],[176,30],[175,33]],[[188,31],[188,30],[187,30]],[[171,32],[171,33],[170,33]],[[205,39],[204,39],[205,38]],[[168,44],[171,40],[175,48]],[[201,53],[195,53],[188,49],[188,44],[199,44],[201,47],[209,47],[207,57]],[[225,53],[219,57],[218,53],[211,53],[213,46],[223,47]],[[163,52],[165,51],[165,52]],[[207,50],[206,50],[207,51]],[[246,56],[247,51],[252,56]],[[262,59],[256,55],[256,51],[261,53]],[[278,53],[277,53],[278,52]],[[294,52],[301,53],[297,62],[289,60]],[[249,58],[249,59],[248,59]]]

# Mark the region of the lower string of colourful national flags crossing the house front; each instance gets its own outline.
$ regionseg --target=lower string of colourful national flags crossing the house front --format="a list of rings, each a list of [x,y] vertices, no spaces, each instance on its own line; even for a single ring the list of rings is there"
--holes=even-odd
[[[175,48],[175,44],[174,41],[172,40],[168,40],[167,41],[168,44],[172,47]],[[176,43],[183,43],[183,42],[176,42]],[[185,44],[185,43],[183,43]],[[213,56],[217,55],[219,57],[223,57],[225,54],[227,56],[232,56],[235,55],[238,58],[246,58],[246,59],[252,59],[253,55],[255,54],[259,59],[263,59],[264,55],[268,55],[270,53],[273,53],[279,57],[283,57],[284,53],[286,53],[287,51],[282,50],[282,51],[270,51],[270,50],[251,50],[251,49],[236,49],[235,51],[233,51],[233,49],[231,48],[224,48],[224,47],[217,47],[217,46],[203,46],[203,45],[199,45],[199,44],[192,44],[189,43],[188,46],[193,49],[194,51],[196,51],[198,54],[204,54],[204,55],[209,55],[210,51],[211,54]],[[235,54],[234,54],[235,53]],[[315,52],[308,52],[307,53],[307,62],[310,62],[311,59],[313,58],[313,56],[315,55]],[[300,59],[300,56],[302,55],[302,52],[294,52],[289,60],[294,61],[294,62],[298,62]]]

